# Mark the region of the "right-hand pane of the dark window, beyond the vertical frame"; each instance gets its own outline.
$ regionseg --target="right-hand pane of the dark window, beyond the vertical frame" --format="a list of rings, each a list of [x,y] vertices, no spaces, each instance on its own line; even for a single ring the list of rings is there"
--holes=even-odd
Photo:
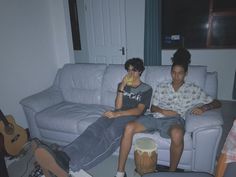
[[[210,0],[208,48],[236,48],[236,1]]]

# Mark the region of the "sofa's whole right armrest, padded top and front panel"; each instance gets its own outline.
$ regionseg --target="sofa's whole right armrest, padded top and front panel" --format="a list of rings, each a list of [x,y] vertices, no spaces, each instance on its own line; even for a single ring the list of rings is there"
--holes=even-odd
[[[192,171],[201,170],[213,174],[222,135],[221,109],[209,110],[199,116],[188,113],[185,123],[186,132],[191,133],[193,138]]]

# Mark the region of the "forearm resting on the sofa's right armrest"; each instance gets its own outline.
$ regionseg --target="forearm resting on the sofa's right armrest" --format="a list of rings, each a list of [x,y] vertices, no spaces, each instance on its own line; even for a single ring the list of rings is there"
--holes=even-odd
[[[202,113],[211,110],[211,109],[216,109],[221,107],[221,102],[217,99],[214,99],[212,102],[208,104],[204,104],[200,107],[196,107],[192,110],[192,114],[195,115],[201,115]]]

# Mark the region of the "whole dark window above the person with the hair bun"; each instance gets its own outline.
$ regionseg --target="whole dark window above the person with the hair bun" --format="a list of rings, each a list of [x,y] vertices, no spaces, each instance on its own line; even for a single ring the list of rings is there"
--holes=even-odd
[[[162,48],[236,48],[235,0],[163,0]]]

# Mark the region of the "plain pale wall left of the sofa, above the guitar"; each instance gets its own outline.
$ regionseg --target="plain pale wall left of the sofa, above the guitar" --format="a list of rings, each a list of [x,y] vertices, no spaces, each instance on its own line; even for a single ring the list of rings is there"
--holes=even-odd
[[[19,101],[73,62],[63,0],[0,1],[0,109],[28,127]]]

